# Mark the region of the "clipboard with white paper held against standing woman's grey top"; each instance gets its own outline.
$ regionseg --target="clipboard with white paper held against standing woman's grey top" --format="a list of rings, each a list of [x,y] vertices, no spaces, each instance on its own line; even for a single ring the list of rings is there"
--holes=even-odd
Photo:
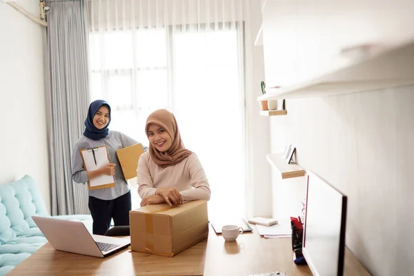
[[[79,150],[79,152],[81,153],[83,168],[85,168],[85,170],[97,170],[109,164],[109,156],[106,146],[85,148],[83,150]],[[99,190],[112,187],[115,187],[115,181],[112,175],[99,175],[99,177],[88,180],[89,190]]]

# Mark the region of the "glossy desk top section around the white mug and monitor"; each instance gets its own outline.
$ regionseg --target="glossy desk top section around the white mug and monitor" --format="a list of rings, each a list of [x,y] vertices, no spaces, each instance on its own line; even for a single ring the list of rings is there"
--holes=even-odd
[[[210,228],[206,248],[204,275],[253,275],[279,271],[287,276],[312,275],[307,265],[293,262],[292,242],[290,238],[265,239],[256,226],[253,233],[244,233],[236,242],[224,242]],[[364,266],[352,253],[345,250],[345,276],[369,276]]]

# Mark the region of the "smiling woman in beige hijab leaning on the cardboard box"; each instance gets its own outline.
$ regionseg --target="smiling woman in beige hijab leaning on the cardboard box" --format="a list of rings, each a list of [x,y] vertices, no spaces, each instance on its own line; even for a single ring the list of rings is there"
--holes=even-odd
[[[165,109],[152,112],[145,132],[148,152],[139,157],[138,193],[141,206],[210,199],[210,185],[194,152],[184,148],[175,116]]]

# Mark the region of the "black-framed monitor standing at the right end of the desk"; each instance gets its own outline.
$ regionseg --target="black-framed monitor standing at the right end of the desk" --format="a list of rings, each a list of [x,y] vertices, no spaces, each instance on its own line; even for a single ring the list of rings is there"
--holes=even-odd
[[[344,273],[346,195],[307,172],[302,253],[315,276]]]

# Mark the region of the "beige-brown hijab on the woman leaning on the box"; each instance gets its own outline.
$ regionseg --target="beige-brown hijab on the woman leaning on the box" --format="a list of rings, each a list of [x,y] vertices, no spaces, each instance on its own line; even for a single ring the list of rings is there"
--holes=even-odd
[[[166,152],[160,152],[156,148],[153,148],[150,143],[150,157],[155,164],[161,166],[161,168],[166,168],[168,166],[178,164],[193,153],[191,150],[184,148],[183,141],[181,141],[181,135],[179,135],[177,121],[171,112],[165,109],[159,109],[155,110],[150,114],[150,116],[148,116],[145,126],[145,133],[147,137],[148,126],[150,126],[150,124],[155,124],[157,126],[161,126],[161,128],[164,128],[172,139],[171,147]]]

